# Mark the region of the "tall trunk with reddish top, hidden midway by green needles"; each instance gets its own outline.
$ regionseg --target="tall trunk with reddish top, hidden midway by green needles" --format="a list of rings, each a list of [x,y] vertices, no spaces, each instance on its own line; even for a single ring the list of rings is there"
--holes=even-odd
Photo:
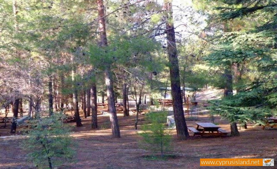
[[[97,9],[98,9],[98,30],[101,47],[106,47],[108,45],[107,35],[106,35],[106,23],[105,23],[105,12],[103,0],[97,0]],[[114,102],[114,91],[113,91],[113,79],[110,63],[105,65],[105,83],[107,86],[107,98],[108,98],[108,109],[110,111],[110,122],[113,137],[120,137],[120,130],[118,125],[118,119],[116,115],[115,102]]]

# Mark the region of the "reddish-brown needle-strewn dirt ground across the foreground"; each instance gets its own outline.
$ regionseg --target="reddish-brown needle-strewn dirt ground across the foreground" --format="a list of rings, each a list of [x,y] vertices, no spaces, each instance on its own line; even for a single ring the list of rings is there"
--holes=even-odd
[[[82,119],[83,127],[74,128],[72,134],[77,148],[77,162],[64,164],[59,169],[129,169],[129,168],[217,168],[200,167],[200,158],[275,158],[277,159],[277,128],[261,130],[260,126],[248,125],[241,129],[238,137],[201,138],[192,136],[179,141],[173,132],[172,151],[178,155],[170,160],[151,161],[143,158],[154,154],[138,146],[141,137],[134,130],[135,116],[123,117],[118,113],[121,138],[112,138],[109,116],[98,116],[99,129],[90,128],[91,118]],[[145,123],[145,115],[139,115],[139,128]],[[198,115],[197,121],[211,122],[207,115]],[[196,127],[196,121],[187,120],[188,127]],[[230,126],[220,117],[215,118],[223,129],[230,131]],[[75,123],[70,123],[75,125]],[[0,129],[1,135],[10,129]],[[20,129],[18,129],[20,130]],[[20,133],[18,133],[20,134]],[[6,133],[6,135],[9,135]],[[0,137],[0,168],[1,169],[32,169],[32,163],[26,161],[26,152],[19,148],[22,136]],[[253,167],[224,167],[253,168]]]

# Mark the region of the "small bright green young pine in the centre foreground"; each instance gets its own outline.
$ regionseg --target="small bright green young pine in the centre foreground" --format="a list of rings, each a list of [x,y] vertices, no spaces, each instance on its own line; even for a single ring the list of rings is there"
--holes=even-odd
[[[150,112],[147,114],[150,124],[143,126],[143,132],[139,133],[143,137],[142,147],[161,153],[171,148],[171,135],[166,131],[167,112]]]

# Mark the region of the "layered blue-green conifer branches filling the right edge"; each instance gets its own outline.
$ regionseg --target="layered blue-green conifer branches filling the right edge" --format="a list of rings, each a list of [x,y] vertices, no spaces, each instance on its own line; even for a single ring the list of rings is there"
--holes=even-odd
[[[224,23],[223,30],[213,36],[212,52],[204,59],[219,69],[240,65],[237,69],[244,78],[236,84],[237,94],[212,102],[211,114],[219,114],[230,123],[261,124],[265,117],[276,115],[276,2],[209,2]]]

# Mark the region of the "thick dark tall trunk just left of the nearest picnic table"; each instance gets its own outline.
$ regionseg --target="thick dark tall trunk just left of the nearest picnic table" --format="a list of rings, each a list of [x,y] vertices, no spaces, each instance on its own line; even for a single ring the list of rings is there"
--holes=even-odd
[[[189,137],[187,124],[182,105],[182,96],[180,91],[180,75],[177,58],[177,49],[175,41],[175,30],[172,17],[172,4],[164,0],[164,9],[166,13],[166,34],[167,34],[167,53],[170,62],[171,93],[173,101],[173,112],[176,124],[176,131],[179,140],[186,140]]]

